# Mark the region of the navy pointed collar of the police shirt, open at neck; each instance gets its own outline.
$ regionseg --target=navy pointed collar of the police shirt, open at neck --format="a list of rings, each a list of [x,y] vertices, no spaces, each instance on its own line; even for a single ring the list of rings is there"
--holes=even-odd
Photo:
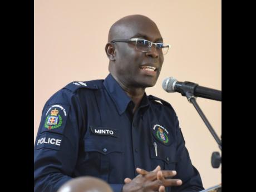
[[[120,115],[125,112],[130,102],[133,104],[130,97],[126,94],[126,92],[122,89],[122,87],[119,85],[119,83],[115,80],[115,78],[111,74],[109,74],[105,78],[103,84],[107,92],[109,93],[111,99],[114,101]],[[142,97],[142,100],[141,100],[140,107],[144,107],[148,105],[149,105],[149,100],[147,99],[146,93],[144,93],[144,96]]]

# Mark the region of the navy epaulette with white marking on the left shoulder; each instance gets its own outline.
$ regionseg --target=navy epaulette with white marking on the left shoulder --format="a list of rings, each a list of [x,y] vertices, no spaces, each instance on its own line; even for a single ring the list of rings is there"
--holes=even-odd
[[[65,87],[72,92],[75,92],[79,88],[88,88],[91,90],[97,90],[102,87],[103,80],[92,80],[92,81],[73,81],[68,83]]]

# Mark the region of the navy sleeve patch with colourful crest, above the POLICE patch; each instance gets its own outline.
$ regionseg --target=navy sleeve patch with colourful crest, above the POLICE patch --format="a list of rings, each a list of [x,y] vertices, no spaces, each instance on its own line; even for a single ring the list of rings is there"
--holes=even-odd
[[[40,133],[48,131],[62,134],[66,126],[69,107],[64,104],[48,105],[42,115]]]

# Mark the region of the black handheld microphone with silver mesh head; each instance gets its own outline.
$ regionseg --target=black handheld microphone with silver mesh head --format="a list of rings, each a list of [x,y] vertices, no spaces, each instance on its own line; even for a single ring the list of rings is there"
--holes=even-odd
[[[179,92],[182,96],[186,96],[186,92],[191,92],[195,97],[203,97],[205,99],[221,101],[221,91],[213,88],[202,87],[197,83],[185,81],[179,82],[174,77],[167,77],[162,83],[162,87],[166,92]]]

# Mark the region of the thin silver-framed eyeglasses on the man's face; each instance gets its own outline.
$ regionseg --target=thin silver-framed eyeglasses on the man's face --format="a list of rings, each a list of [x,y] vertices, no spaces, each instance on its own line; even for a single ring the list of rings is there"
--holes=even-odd
[[[166,55],[169,48],[171,47],[170,45],[168,45],[166,43],[153,43],[151,41],[142,40],[141,38],[131,38],[130,40],[113,40],[113,41],[111,41],[111,43],[116,43],[116,42],[135,43],[136,50],[139,50],[142,52],[149,51],[150,48],[152,47],[152,45],[154,44],[156,47],[156,50],[162,51],[163,55]]]

